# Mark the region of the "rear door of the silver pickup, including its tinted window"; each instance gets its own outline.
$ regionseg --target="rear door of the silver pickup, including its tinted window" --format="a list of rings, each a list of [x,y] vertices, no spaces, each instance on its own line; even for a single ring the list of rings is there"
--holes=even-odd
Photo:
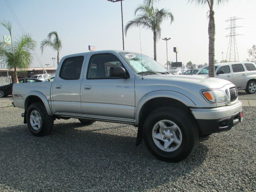
[[[52,85],[52,106],[55,113],[82,114],[80,87],[86,56],[64,59]]]

